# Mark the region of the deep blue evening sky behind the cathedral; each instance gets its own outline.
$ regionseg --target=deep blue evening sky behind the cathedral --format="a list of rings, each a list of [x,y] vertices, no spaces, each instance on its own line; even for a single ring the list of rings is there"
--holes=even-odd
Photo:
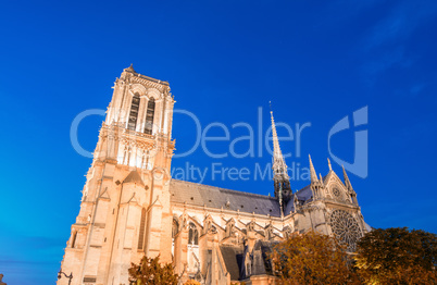
[[[91,160],[77,154],[70,126],[79,112],[104,109],[112,85],[134,63],[168,80],[175,108],[202,126],[257,127],[269,101],[275,119],[303,131],[301,157],[326,174],[330,127],[369,106],[369,176],[349,177],[374,227],[437,232],[437,3],[428,1],[3,1],[0,9],[0,273],[9,284],[53,284],[79,209]],[[85,120],[79,140],[92,150],[103,117]],[[191,147],[193,123],[175,116],[177,151]],[[285,129],[278,129],[284,135]],[[211,134],[221,134],[217,129]],[[223,132],[222,132],[223,133]],[[232,129],[232,139],[247,135]],[[255,142],[258,147],[259,141]],[[229,142],[211,142],[228,150]],[[240,148],[244,148],[241,142]],[[353,131],[333,140],[353,159]],[[211,168],[265,165],[271,157],[211,159],[201,149],[175,159]],[[340,174],[340,165],[333,162]],[[204,184],[267,195],[270,181]],[[291,182],[294,189],[308,182]],[[434,208],[434,209],[433,209]]]

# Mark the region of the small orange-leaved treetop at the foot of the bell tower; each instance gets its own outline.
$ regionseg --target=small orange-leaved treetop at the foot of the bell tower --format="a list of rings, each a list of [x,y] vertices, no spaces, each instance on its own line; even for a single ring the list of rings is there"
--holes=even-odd
[[[129,282],[137,285],[177,285],[178,276],[174,273],[171,263],[160,264],[160,257],[143,257],[137,265],[129,268]]]

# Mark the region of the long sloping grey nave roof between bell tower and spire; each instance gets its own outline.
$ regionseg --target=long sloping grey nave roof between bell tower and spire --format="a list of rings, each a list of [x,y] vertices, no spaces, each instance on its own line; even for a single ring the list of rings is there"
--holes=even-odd
[[[255,214],[280,216],[279,202],[276,198],[229,190],[191,182],[172,179],[170,184],[172,202],[186,202],[187,205],[215,209],[224,209]]]

